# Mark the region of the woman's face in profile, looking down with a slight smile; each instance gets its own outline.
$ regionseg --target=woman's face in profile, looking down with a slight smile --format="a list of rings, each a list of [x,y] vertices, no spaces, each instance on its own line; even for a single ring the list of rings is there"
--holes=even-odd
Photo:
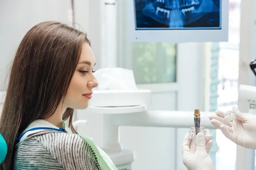
[[[74,76],[68,87],[68,92],[63,106],[74,109],[85,109],[92,98],[92,89],[98,86],[98,82],[92,71],[95,58],[92,48],[84,43],[82,52],[76,67]]]

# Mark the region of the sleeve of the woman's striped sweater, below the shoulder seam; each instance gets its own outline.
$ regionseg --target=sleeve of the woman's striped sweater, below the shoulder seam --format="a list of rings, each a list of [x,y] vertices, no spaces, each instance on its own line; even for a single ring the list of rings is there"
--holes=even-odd
[[[65,168],[98,170],[91,146],[76,134],[52,132],[33,137],[44,145],[51,155]]]

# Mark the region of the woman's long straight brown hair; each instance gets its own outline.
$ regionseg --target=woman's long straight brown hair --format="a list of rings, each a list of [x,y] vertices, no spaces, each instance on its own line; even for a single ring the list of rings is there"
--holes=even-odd
[[[0,169],[11,170],[15,138],[36,119],[53,115],[65,98],[87,35],[60,22],[46,21],[33,26],[15,54],[1,114],[0,133],[8,151]],[[63,120],[72,126],[74,109]]]

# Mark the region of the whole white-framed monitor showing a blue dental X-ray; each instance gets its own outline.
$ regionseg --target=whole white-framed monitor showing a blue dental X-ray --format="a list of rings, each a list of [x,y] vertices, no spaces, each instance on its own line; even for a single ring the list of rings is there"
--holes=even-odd
[[[127,0],[132,42],[228,41],[228,0]]]

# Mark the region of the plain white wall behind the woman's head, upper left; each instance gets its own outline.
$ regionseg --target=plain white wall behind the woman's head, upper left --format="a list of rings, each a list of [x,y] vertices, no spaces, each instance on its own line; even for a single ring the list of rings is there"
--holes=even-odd
[[[5,90],[7,66],[25,33],[46,20],[68,23],[70,9],[71,0],[0,1],[0,91]]]

